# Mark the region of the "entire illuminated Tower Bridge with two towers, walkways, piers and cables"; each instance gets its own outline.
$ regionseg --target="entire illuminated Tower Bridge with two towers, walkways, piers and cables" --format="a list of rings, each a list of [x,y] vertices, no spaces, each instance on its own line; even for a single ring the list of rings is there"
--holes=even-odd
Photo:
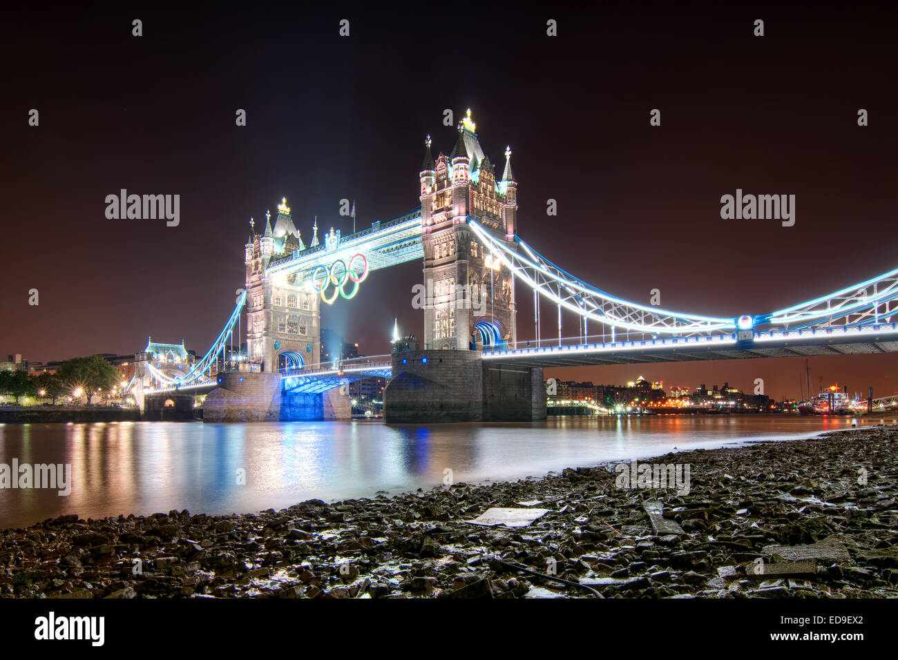
[[[286,199],[274,226],[269,213],[259,231],[251,220],[245,289],[213,346],[177,370],[137,354],[136,399],[207,391],[207,420],[329,418],[341,414],[334,392],[378,375],[391,378],[388,421],[526,420],[545,417],[545,367],[898,351],[898,269],[735,317],[606,293],[524,242],[511,149],[499,174],[475,129],[469,110],[450,154],[436,158],[427,136],[420,207],[403,216],[348,235],[330,228],[323,240],[316,219],[308,246]],[[411,260],[421,260],[427,291],[424,348],[397,344],[390,356],[321,364],[322,305],[353,298],[371,271]],[[533,295],[531,339],[518,339],[518,295]],[[557,336],[542,335],[547,313]],[[565,318],[576,335],[565,334]],[[247,355],[219,371],[243,332]]]

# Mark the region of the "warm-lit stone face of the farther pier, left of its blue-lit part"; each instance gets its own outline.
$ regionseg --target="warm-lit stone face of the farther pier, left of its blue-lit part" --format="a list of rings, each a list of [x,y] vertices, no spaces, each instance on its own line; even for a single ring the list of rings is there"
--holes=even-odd
[[[208,393],[203,404],[203,421],[277,421],[280,419],[281,391],[281,378],[277,373],[219,373],[218,387]]]

